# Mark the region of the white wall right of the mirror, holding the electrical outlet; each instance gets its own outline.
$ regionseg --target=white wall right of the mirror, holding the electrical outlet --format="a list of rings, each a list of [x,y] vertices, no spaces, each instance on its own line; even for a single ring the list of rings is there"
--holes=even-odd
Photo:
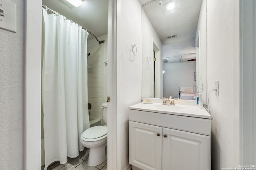
[[[209,95],[212,114],[212,170],[233,167],[234,162],[234,58],[239,53],[239,1],[207,1],[207,89],[219,80],[219,96]],[[237,75],[239,80],[239,75]]]

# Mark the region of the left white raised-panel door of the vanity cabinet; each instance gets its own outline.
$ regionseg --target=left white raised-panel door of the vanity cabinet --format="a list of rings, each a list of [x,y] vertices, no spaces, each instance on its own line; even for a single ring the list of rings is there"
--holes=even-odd
[[[162,170],[162,127],[129,121],[129,163]]]

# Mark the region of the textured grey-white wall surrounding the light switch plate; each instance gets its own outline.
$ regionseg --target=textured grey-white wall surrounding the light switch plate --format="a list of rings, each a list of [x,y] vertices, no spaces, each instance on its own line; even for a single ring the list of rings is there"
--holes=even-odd
[[[17,33],[0,29],[0,169],[22,169],[23,4],[17,7]]]

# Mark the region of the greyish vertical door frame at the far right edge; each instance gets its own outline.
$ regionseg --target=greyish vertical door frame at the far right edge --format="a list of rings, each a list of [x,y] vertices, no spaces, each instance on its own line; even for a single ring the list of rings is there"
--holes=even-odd
[[[240,0],[240,33],[240,164],[254,165],[256,164],[256,2],[254,0]]]

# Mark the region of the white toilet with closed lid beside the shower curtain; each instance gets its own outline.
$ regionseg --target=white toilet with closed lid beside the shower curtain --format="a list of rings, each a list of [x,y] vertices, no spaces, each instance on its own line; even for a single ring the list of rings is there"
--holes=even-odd
[[[105,146],[107,144],[107,103],[102,104],[103,121],[106,125],[94,126],[82,133],[80,142],[84,147],[89,148],[88,165],[96,166],[106,160]]]

